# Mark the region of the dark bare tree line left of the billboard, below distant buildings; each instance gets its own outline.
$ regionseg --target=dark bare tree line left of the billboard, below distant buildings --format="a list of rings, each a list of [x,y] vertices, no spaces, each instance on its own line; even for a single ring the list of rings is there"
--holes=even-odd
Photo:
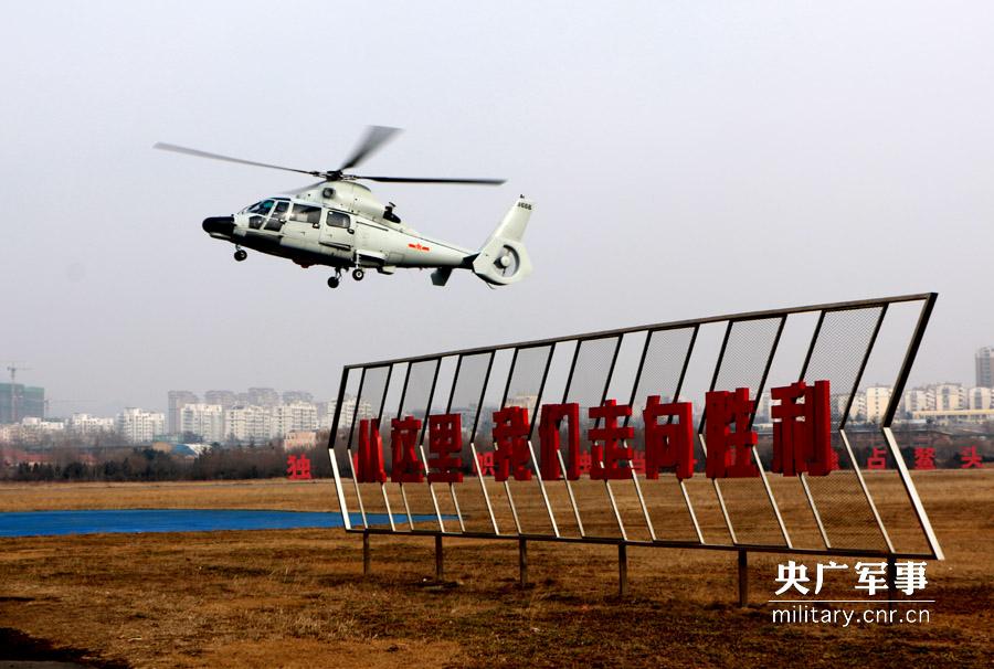
[[[197,457],[152,448],[133,448],[109,456],[83,458],[61,449],[46,463],[0,465],[0,480],[12,481],[178,481],[279,478],[287,475],[287,456],[305,455],[314,478],[331,476],[328,449],[286,452],[278,445],[222,447],[212,445]]]

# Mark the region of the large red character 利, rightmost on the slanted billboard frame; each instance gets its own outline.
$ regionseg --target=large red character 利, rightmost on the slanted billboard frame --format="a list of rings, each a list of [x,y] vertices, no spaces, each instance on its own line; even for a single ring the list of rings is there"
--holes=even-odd
[[[771,408],[773,418],[773,465],[771,471],[797,476],[828,476],[833,469],[832,408],[828,382],[803,381],[770,391],[779,405]],[[801,404],[801,401],[804,403]]]

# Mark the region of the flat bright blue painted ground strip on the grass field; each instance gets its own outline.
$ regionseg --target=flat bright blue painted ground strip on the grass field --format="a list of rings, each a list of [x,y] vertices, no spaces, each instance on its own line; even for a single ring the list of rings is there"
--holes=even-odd
[[[385,513],[367,516],[370,524],[389,524]],[[415,516],[432,521],[434,516]],[[355,525],[362,518],[351,513]],[[394,522],[406,522],[394,514]],[[105,532],[216,532],[219,530],[292,530],[340,528],[341,513],[253,509],[106,509],[98,511],[25,511],[0,513],[0,537],[57,537]]]

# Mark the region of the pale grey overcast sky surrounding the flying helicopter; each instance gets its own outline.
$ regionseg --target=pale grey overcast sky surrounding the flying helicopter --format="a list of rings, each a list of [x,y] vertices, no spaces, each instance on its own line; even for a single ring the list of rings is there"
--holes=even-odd
[[[696,316],[940,293],[912,381],[994,343],[994,4],[9,2],[0,42],[0,360],[53,414],[166,391],[302,389],[342,363]],[[527,282],[370,274],[330,290],[200,227],[367,173],[477,247],[537,202]],[[4,365],[6,367],[6,365]],[[85,401],[85,402],[84,402]]]

